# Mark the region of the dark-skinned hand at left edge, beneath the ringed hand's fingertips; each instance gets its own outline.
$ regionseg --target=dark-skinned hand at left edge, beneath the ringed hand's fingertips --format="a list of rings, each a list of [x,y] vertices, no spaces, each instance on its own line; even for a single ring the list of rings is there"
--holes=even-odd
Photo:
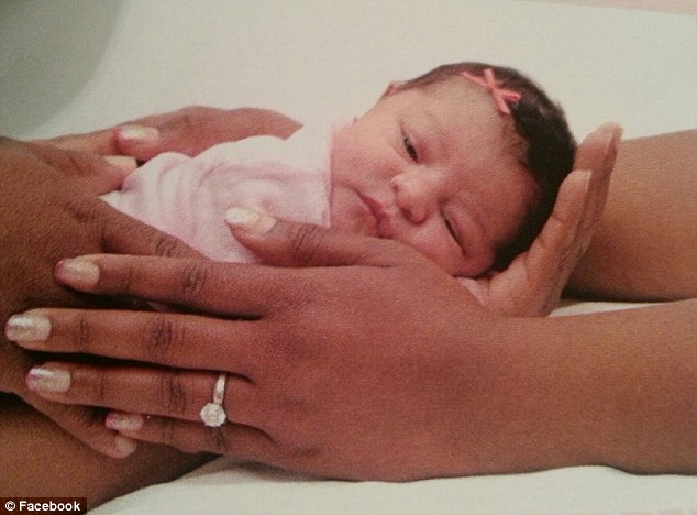
[[[120,173],[119,167],[89,154],[0,139],[0,322],[37,305],[106,305],[56,284],[53,269],[63,258],[85,252],[197,255],[93,196],[100,184],[108,186]],[[19,395],[102,452],[124,456],[132,451],[128,440],[114,439],[113,431],[104,430],[103,414],[56,406],[26,388],[26,372],[41,359],[2,338],[0,392]]]

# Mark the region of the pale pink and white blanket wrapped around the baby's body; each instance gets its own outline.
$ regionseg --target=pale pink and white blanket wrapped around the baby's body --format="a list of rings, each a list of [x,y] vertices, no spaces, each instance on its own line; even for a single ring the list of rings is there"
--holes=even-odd
[[[254,263],[224,222],[244,207],[298,222],[329,226],[328,131],[303,127],[288,140],[247,138],[188,157],[148,161],[102,200],[218,261]]]

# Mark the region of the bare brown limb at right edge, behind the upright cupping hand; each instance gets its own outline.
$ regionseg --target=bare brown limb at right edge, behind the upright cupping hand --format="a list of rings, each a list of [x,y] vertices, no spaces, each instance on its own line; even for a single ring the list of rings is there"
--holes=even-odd
[[[596,235],[572,275],[575,294],[697,296],[697,130],[622,142]]]

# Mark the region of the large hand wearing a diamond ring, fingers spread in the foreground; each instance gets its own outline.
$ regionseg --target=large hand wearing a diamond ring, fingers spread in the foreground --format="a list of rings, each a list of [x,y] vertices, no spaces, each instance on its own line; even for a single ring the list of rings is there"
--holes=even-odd
[[[474,413],[472,396],[500,377],[502,319],[397,242],[247,222],[235,235],[276,266],[97,255],[79,259],[75,276],[75,261],[59,264],[58,278],[85,292],[215,317],[29,311],[19,319],[36,328],[20,338],[27,348],[158,365],[48,362],[29,383],[47,399],[129,412],[110,427],[184,450],[344,478],[482,470],[484,454],[456,447],[480,438],[472,431],[486,406]],[[215,429],[199,418],[211,371],[229,374],[230,423]]]

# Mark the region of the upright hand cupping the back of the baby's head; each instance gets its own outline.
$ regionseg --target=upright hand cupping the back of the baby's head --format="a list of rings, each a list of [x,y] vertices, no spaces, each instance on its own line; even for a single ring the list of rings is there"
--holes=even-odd
[[[511,316],[544,316],[558,305],[602,213],[620,134],[618,125],[607,123],[580,144],[574,172],[528,251],[500,273],[460,280],[484,306]]]

